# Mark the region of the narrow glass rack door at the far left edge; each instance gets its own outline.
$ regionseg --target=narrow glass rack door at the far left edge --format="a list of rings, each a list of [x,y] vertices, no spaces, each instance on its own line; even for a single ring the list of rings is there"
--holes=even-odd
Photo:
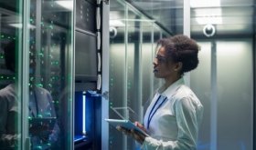
[[[0,1],[0,149],[22,149],[22,5]]]

